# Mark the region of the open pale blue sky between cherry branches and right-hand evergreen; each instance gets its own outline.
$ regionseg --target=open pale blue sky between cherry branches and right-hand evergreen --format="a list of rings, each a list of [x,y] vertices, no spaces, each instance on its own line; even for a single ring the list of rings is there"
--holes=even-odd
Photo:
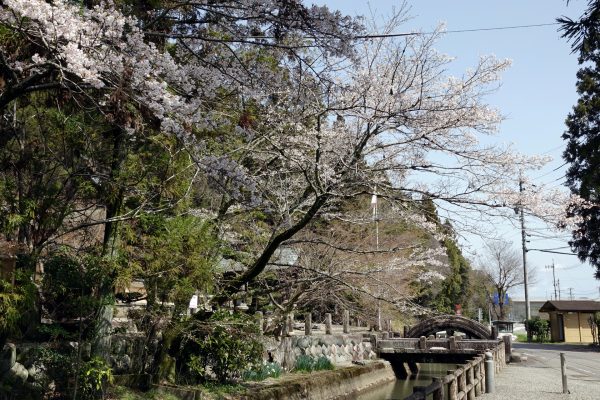
[[[400,4],[390,0],[373,0],[369,4],[342,0],[315,2],[349,15],[369,15],[374,11],[379,17],[389,15],[393,7]],[[573,0],[567,6],[563,0],[412,0],[407,5],[413,18],[407,21],[402,31],[427,32],[442,22],[448,31],[552,23],[563,15],[579,17],[586,3],[585,0]],[[558,26],[546,26],[448,33],[436,46],[439,51],[456,58],[450,70],[455,74],[474,65],[484,54],[512,60],[512,67],[504,74],[502,87],[490,95],[488,101],[506,117],[496,137],[497,142],[514,143],[521,153],[547,154],[554,158],[547,167],[533,175],[537,184],[560,185],[564,181],[561,179],[564,168],[553,170],[563,164],[561,134],[565,130],[564,120],[577,100],[577,59],[557,29]],[[528,224],[535,226],[533,221],[528,221]],[[520,246],[518,229],[500,226],[498,233],[513,241],[515,247]],[[537,234],[556,235],[545,229],[538,230]],[[563,247],[567,246],[569,235],[562,236],[561,240],[531,237],[528,246],[568,252]],[[472,239],[470,244],[465,245],[477,251],[481,242]],[[545,299],[553,292],[552,272],[544,268],[553,260],[557,266],[562,299],[568,299],[568,288],[573,288],[575,298],[600,297],[600,281],[593,279],[593,268],[581,264],[577,257],[530,251],[528,263],[537,267],[538,279],[538,283],[530,287],[530,299]],[[514,296],[522,298],[522,288],[516,290]]]

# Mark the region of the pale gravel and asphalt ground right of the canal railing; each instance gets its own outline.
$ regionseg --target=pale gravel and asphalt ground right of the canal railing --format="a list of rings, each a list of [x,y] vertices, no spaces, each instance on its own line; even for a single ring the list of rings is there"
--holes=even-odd
[[[527,361],[496,374],[496,391],[482,400],[600,400],[600,352],[586,345],[515,343]],[[562,393],[560,353],[565,353],[570,394]]]

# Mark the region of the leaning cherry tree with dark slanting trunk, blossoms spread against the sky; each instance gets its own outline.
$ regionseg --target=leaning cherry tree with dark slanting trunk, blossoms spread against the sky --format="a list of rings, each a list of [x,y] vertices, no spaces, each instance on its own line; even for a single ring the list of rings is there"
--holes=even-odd
[[[259,276],[275,250],[315,217],[341,218],[336,205],[359,195],[377,193],[412,220],[418,218],[409,205],[425,197],[465,212],[512,213],[518,204],[542,211],[515,182],[520,171],[545,160],[478,139],[493,134],[501,120],[484,98],[509,62],[483,57],[463,76],[446,76],[450,59],[435,51],[438,36],[359,41],[359,56],[343,73],[302,87],[308,72],[298,70],[296,85],[266,105],[264,133],[238,162],[251,166],[245,173],[256,207],[272,225],[258,256],[226,293]]]

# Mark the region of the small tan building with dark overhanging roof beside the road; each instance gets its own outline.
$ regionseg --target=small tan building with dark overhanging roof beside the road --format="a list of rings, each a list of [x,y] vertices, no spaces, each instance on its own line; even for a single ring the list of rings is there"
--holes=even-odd
[[[553,342],[593,343],[592,318],[600,302],[592,300],[549,300],[540,312],[550,315]]]

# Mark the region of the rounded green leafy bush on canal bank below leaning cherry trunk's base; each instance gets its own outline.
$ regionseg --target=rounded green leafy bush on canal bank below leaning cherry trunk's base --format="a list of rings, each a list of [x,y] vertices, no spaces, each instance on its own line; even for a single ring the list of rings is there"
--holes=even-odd
[[[262,361],[263,346],[254,318],[217,312],[205,321],[182,323],[171,352],[184,383],[239,379]]]

